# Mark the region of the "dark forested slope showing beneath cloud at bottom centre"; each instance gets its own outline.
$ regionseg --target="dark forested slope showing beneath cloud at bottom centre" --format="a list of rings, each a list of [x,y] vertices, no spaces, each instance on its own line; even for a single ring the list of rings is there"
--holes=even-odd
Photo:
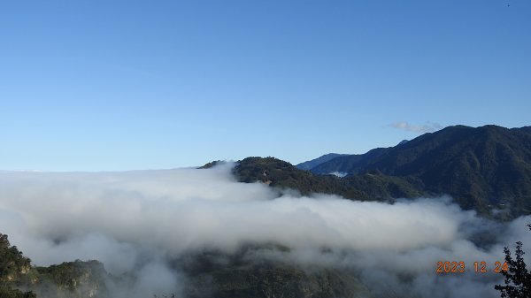
[[[286,249],[266,246],[271,249]],[[261,249],[264,246],[260,247]],[[231,255],[204,252],[181,264],[186,275],[185,297],[217,298],[299,298],[299,297],[373,297],[349,270],[305,268],[294,264],[249,259],[257,247],[242,248]]]

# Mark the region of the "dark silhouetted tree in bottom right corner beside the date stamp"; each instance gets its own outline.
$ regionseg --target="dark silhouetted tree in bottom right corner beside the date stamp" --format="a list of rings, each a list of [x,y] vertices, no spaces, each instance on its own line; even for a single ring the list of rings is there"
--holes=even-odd
[[[527,225],[531,230],[531,224]],[[504,248],[505,262],[508,265],[507,271],[501,271],[505,277],[505,285],[496,285],[496,290],[500,291],[502,298],[529,298],[531,297],[531,272],[527,271],[524,262],[524,251],[522,242],[516,242],[516,259],[511,256],[511,250]]]

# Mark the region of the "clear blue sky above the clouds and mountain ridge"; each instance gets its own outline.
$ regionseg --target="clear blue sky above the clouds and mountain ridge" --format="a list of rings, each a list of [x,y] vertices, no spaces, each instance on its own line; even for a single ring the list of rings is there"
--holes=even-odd
[[[531,1],[0,2],[3,170],[297,164],[456,124],[531,125]]]

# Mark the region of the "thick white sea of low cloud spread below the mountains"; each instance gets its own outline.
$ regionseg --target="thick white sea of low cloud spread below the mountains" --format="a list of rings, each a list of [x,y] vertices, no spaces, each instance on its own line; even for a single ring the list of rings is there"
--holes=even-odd
[[[476,261],[503,261],[503,247],[514,241],[531,247],[531,218],[494,223],[449,198],[388,204],[299,197],[239,183],[231,167],[0,172],[0,233],[35,264],[98,259],[114,274],[136,271],[135,290],[123,294],[136,297],[178,291],[181,273],[165,264],[168,257],[268,243],[290,249],[248,257],[357,268],[381,295],[497,297],[497,274],[438,275],[437,262],[463,261],[470,270]],[[477,244],[485,233],[493,241]]]

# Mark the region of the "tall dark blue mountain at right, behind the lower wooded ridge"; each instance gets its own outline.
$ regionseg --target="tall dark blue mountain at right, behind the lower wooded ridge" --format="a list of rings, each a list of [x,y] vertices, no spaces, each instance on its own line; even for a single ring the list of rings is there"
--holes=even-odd
[[[421,181],[422,191],[451,195],[466,209],[529,214],[531,126],[449,126],[395,147],[335,157],[311,171],[410,177]]]

